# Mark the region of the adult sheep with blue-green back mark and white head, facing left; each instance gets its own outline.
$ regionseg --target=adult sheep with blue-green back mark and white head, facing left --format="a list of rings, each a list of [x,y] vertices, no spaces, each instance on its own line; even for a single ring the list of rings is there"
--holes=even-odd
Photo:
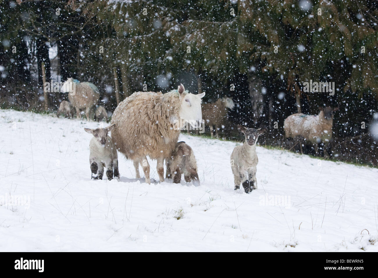
[[[91,110],[100,98],[98,88],[90,82],[79,82],[76,79],[68,78],[63,84],[63,92],[68,93],[72,107],[76,109],[76,118],[80,119],[80,110],[85,109],[85,116],[90,121],[94,115]],[[90,113],[92,115],[90,115]]]

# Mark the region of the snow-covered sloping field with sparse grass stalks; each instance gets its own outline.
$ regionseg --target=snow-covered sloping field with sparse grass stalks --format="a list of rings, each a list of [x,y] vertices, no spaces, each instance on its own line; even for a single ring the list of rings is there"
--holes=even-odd
[[[98,126],[0,110],[1,251],[378,251],[378,169],[257,147],[246,194],[237,143],[181,135],[200,186],[147,185],[121,154],[121,179],[95,181],[84,127]]]

